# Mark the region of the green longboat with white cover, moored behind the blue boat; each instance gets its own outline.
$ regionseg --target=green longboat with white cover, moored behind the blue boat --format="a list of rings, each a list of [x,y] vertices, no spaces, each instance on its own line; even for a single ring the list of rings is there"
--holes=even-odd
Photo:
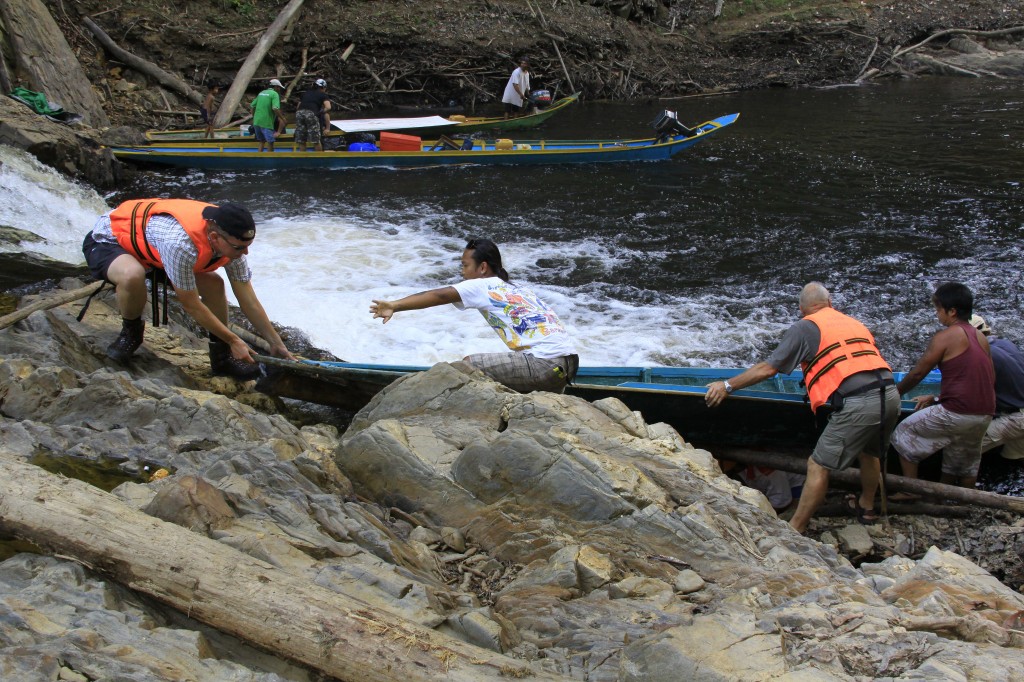
[[[553,102],[551,106],[534,114],[506,119],[501,116],[482,117],[452,117],[420,116],[375,119],[334,119],[331,121],[329,137],[344,136],[351,132],[396,132],[416,135],[453,135],[463,133],[485,132],[489,130],[525,130],[536,128],[554,115],[562,112],[569,104],[580,99],[580,93],[573,93]],[[201,143],[216,142],[224,139],[253,139],[248,126],[241,128],[218,128],[213,131],[213,137],[207,138],[205,128],[188,128],[183,130],[147,130],[145,138],[154,142],[194,141]],[[295,139],[295,128],[289,126],[285,134],[278,137],[278,142],[291,142]]]

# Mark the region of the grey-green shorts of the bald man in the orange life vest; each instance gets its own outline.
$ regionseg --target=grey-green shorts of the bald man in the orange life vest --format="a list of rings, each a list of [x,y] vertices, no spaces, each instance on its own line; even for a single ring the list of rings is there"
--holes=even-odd
[[[876,388],[846,398],[843,409],[828,417],[828,424],[811,453],[812,460],[825,469],[842,471],[853,464],[861,453],[880,457],[883,453],[880,445],[889,447],[889,436],[899,419],[899,393],[895,386],[886,387],[886,419],[880,434],[882,398],[879,390]],[[884,442],[880,442],[882,438]]]

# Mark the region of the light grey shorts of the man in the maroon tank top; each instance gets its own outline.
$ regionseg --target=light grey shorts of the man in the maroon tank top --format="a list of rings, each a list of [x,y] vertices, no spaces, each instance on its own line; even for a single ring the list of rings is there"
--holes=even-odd
[[[933,404],[913,413],[893,432],[893,447],[907,462],[923,462],[942,451],[942,473],[977,476],[981,439],[989,415],[961,415]]]

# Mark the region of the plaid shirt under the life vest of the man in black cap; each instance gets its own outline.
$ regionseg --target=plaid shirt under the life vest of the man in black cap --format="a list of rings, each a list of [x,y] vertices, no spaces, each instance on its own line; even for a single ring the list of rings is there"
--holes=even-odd
[[[92,227],[92,239],[100,243],[117,244],[118,240],[111,229],[110,213],[99,216],[96,220],[96,224]],[[181,223],[166,213],[150,216],[148,222],[145,223],[145,239],[160,254],[164,271],[167,272],[167,279],[174,285],[174,289],[195,291],[196,272],[193,268],[199,260],[199,250]],[[224,271],[227,272],[227,279],[232,282],[249,282],[253,276],[245,256],[227,263]]]

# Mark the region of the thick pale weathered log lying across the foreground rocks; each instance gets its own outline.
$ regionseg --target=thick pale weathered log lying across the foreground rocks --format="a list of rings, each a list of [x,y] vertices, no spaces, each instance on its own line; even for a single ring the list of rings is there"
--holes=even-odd
[[[0,532],[340,680],[564,679],[322,588],[2,450]]]

